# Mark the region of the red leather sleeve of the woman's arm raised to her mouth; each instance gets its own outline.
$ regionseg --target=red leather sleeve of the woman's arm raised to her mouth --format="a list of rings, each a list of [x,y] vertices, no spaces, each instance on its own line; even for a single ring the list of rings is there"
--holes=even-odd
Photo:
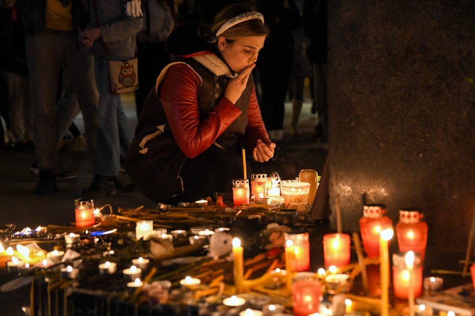
[[[189,158],[195,158],[208,149],[216,138],[242,113],[226,98],[222,98],[200,121],[198,89],[201,78],[185,65],[176,64],[168,69],[160,88],[165,115],[179,148]]]

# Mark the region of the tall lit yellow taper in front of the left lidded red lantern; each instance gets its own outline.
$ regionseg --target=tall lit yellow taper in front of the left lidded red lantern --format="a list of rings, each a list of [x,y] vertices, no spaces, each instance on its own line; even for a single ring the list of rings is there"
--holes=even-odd
[[[380,253],[380,274],[381,274],[381,316],[389,315],[389,249],[388,242],[391,240],[394,231],[384,229],[379,237]]]

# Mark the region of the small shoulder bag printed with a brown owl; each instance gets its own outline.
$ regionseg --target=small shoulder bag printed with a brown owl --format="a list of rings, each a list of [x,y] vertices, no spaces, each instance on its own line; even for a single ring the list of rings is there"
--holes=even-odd
[[[130,93],[139,88],[137,58],[125,61],[108,60],[108,63],[113,94]]]

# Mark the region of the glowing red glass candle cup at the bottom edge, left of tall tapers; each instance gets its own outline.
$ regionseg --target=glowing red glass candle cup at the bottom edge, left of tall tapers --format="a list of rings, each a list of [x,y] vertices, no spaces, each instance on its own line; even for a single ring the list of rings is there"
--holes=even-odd
[[[292,284],[294,315],[307,316],[319,311],[322,287],[319,280],[301,279]]]

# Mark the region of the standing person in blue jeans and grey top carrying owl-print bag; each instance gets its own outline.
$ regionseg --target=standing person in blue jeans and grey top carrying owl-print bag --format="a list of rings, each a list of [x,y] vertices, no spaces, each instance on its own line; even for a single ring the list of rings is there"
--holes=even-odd
[[[134,131],[127,120],[120,95],[111,92],[108,59],[124,61],[136,55],[136,34],[142,30],[140,0],[89,0],[89,25],[78,39],[91,48],[99,103],[99,131],[94,157],[94,180],[83,196],[117,193],[116,176],[121,154],[125,157]],[[122,151],[122,153],[121,153]]]

